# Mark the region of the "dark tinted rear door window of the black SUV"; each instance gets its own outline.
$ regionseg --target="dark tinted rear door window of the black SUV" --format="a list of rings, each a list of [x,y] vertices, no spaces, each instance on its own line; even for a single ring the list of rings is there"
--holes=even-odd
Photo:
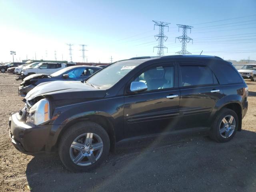
[[[208,66],[180,66],[182,86],[218,84]]]

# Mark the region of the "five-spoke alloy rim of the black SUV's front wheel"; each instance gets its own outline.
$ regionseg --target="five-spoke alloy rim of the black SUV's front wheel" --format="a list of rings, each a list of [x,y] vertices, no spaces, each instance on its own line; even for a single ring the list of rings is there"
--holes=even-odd
[[[103,142],[94,133],[84,133],[74,139],[70,146],[71,160],[79,166],[88,166],[96,162],[103,152]]]

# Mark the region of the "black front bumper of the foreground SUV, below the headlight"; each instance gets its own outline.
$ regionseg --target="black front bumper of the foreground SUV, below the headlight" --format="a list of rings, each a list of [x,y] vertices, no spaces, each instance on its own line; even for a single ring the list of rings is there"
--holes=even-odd
[[[44,154],[51,127],[30,126],[18,117],[19,114],[14,113],[9,118],[9,136],[14,147],[24,154]]]

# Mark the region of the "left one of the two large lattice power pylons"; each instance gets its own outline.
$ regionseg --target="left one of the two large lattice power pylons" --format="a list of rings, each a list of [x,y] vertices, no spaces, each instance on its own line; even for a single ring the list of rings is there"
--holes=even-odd
[[[154,48],[158,48],[157,51],[157,55],[158,56],[162,56],[164,55],[164,49],[167,49],[168,52],[168,48],[164,46],[164,42],[168,39],[167,36],[164,35],[164,28],[167,27],[168,31],[169,31],[169,24],[170,23],[166,23],[166,22],[162,22],[162,21],[154,21],[154,30],[155,30],[155,26],[159,26],[159,34],[155,35],[155,39],[158,41],[158,46],[154,46]],[[153,48],[153,52],[154,52],[154,48]]]

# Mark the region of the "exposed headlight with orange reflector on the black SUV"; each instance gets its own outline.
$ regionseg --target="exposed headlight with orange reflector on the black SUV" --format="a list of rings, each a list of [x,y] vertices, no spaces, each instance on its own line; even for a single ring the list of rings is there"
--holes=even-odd
[[[35,125],[42,124],[50,120],[50,105],[47,99],[41,99],[28,111],[28,123]]]

